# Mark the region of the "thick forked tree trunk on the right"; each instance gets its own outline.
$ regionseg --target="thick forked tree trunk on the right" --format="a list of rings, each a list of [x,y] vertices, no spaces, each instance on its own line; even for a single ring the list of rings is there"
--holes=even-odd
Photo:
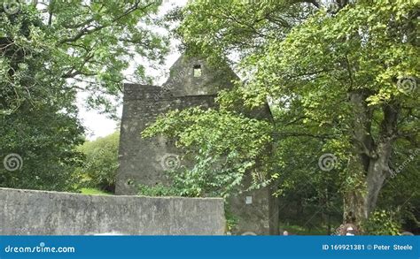
[[[354,186],[346,187],[344,220],[356,225],[360,225],[376,208],[379,192],[390,175],[388,164],[400,111],[397,103],[382,106],[381,128],[374,140],[371,133],[373,108],[366,102],[368,96],[369,92],[365,90],[350,93],[354,111],[354,151],[348,159],[347,177],[352,179]]]

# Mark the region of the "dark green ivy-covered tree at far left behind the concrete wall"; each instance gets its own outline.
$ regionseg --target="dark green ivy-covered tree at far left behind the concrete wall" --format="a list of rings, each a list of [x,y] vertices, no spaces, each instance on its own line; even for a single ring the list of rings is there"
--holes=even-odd
[[[82,158],[74,147],[83,141],[75,91],[65,91],[48,71],[51,52],[33,41],[42,34],[41,20],[25,14],[0,13],[0,154],[7,165],[0,185],[73,191],[72,173]]]

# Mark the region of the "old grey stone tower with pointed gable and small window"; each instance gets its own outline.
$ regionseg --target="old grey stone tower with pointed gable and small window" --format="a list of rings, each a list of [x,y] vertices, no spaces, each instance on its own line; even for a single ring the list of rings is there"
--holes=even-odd
[[[198,105],[215,107],[218,91],[232,88],[232,80],[237,79],[228,65],[214,68],[204,59],[183,55],[171,67],[169,79],[162,87],[125,84],[115,193],[137,194],[138,184],[170,184],[165,170],[180,163],[177,155],[181,153],[163,137],[143,139],[144,128],[168,110]],[[229,203],[238,218],[236,234],[276,234],[277,206],[269,188],[237,195]]]

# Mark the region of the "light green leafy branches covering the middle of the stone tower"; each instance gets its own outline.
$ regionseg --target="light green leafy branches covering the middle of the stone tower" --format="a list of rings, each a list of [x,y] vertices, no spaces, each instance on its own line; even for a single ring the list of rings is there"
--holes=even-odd
[[[197,119],[199,118],[199,119]],[[211,131],[211,133],[209,133]],[[147,128],[143,136],[163,133],[176,140],[191,168],[172,174],[174,186],[185,196],[223,196],[243,190],[245,171],[264,184],[269,168],[261,167],[267,156],[272,129],[266,121],[246,118],[226,110],[191,108],[174,110]],[[253,186],[255,187],[255,186]]]

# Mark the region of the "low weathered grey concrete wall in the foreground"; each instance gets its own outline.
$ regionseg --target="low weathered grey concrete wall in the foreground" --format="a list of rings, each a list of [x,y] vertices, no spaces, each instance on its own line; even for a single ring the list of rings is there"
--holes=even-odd
[[[0,188],[0,235],[222,235],[222,199]]]

